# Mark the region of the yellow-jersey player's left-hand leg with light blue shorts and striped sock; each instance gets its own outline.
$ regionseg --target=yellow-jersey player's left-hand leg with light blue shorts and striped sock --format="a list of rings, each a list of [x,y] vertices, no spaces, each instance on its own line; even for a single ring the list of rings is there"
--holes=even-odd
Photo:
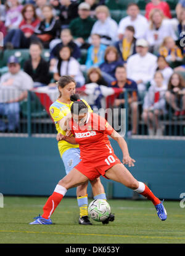
[[[64,162],[65,172],[68,174],[79,162],[80,149],[70,148],[62,154],[62,161]],[[76,188],[76,198],[78,202],[80,218],[79,224],[91,224],[88,219],[88,195],[87,195],[88,182],[78,186]],[[84,217],[86,216],[86,217]]]

